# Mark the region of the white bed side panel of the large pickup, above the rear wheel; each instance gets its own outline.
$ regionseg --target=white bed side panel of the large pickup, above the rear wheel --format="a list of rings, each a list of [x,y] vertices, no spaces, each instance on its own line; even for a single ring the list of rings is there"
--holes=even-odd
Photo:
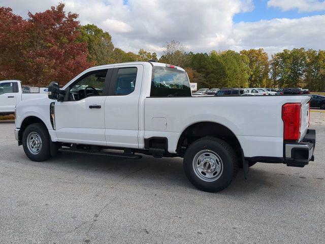
[[[175,138],[188,126],[211,121],[236,135],[245,157],[283,157],[282,105],[301,101],[301,96],[146,98],[145,138],[165,135],[169,152],[175,153]],[[165,130],[152,122],[161,117],[166,118]]]

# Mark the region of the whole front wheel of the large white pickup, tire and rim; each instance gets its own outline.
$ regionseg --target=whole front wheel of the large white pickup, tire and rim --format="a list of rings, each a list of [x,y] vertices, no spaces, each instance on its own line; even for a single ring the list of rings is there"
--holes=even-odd
[[[34,134],[33,134],[34,133]],[[41,146],[39,146],[39,151],[34,148],[31,148],[33,145],[29,145],[28,142],[31,138],[38,138],[38,141],[41,141]],[[32,137],[32,135],[35,135]],[[45,161],[51,157],[50,150],[50,135],[47,128],[42,123],[35,123],[27,126],[22,134],[22,146],[26,156],[32,161]],[[33,152],[34,150],[34,152]]]

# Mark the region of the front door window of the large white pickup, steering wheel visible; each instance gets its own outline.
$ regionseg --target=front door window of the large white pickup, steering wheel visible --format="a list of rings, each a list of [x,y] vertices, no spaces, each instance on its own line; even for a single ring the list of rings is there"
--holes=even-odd
[[[91,71],[72,84],[69,92],[70,101],[78,101],[87,97],[104,96],[107,69]]]

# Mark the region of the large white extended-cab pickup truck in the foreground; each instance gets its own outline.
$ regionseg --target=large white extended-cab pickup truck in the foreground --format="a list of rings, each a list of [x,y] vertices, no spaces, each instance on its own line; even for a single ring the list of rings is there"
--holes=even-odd
[[[314,159],[307,96],[192,97],[182,68],[155,62],[93,67],[48,89],[16,108],[18,145],[34,161],[57,151],[182,157],[192,184],[216,192],[238,167]]]

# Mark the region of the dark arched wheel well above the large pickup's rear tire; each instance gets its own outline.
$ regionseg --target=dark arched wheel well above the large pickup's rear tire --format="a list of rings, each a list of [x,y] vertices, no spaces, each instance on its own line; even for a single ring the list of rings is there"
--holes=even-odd
[[[241,161],[241,145],[236,135],[229,128],[214,122],[200,122],[187,127],[178,140],[176,149],[178,155],[183,157],[190,144],[200,138],[208,136],[220,138],[229,143],[236,151],[238,160]]]

